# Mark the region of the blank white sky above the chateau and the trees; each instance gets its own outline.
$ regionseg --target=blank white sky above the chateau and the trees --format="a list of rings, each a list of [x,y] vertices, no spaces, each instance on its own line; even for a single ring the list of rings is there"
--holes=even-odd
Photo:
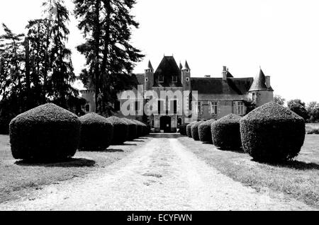
[[[41,15],[43,0],[2,1],[0,23],[16,33]],[[146,57],[135,72],[149,59],[156,69],[164,54],[187,59],[192,76],[221,76],[224,65],[235,77],[256,76],[261,66],[275,94],[319,101],[318,9],[318,0],[138,0],[132,42]],[[72,18],[69,47],[79,74],[85,60],[75,50],[82,42],[76,25]]]

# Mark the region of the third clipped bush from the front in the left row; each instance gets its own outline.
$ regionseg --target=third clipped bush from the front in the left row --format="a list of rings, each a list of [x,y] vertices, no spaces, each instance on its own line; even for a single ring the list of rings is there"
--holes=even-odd
[[[113,139],[111,143],[118,145],[126,142],[128,140],[128,123],[114,116],[108,117],[106,120],[113,125]]]

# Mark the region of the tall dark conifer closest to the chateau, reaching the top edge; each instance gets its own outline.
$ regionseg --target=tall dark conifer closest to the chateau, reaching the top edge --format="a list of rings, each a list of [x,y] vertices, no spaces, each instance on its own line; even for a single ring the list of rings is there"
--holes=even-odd
[[[135,0],[74,0],[75,15],[86,42],[79,45],[87,68],[81,78],[96,90],[96,111],[110,114],[117,93],[132,86],[128,74],[140,62],[140,50],[130,45],[131,30],[138,23],[130,15]]]

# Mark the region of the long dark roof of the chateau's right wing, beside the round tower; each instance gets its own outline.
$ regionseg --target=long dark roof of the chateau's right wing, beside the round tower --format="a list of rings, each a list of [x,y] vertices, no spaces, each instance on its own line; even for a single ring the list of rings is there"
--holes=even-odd
[[[231,74],[230,74],[231,75]],[[192,91],[198,94],[213,95],[245,95],[250,90],[252,78],[191,78]]]

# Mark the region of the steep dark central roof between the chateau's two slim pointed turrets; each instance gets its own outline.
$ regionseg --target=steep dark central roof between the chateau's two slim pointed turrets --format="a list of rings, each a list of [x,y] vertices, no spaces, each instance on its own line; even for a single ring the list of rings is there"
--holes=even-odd
[[[164,76],[164,83],[159,83],[159,75]],[[177,82],[172,81],[177,76]],[[172,56],[164,56],[154,74],[154,87],[181,87],[181,71]]]

